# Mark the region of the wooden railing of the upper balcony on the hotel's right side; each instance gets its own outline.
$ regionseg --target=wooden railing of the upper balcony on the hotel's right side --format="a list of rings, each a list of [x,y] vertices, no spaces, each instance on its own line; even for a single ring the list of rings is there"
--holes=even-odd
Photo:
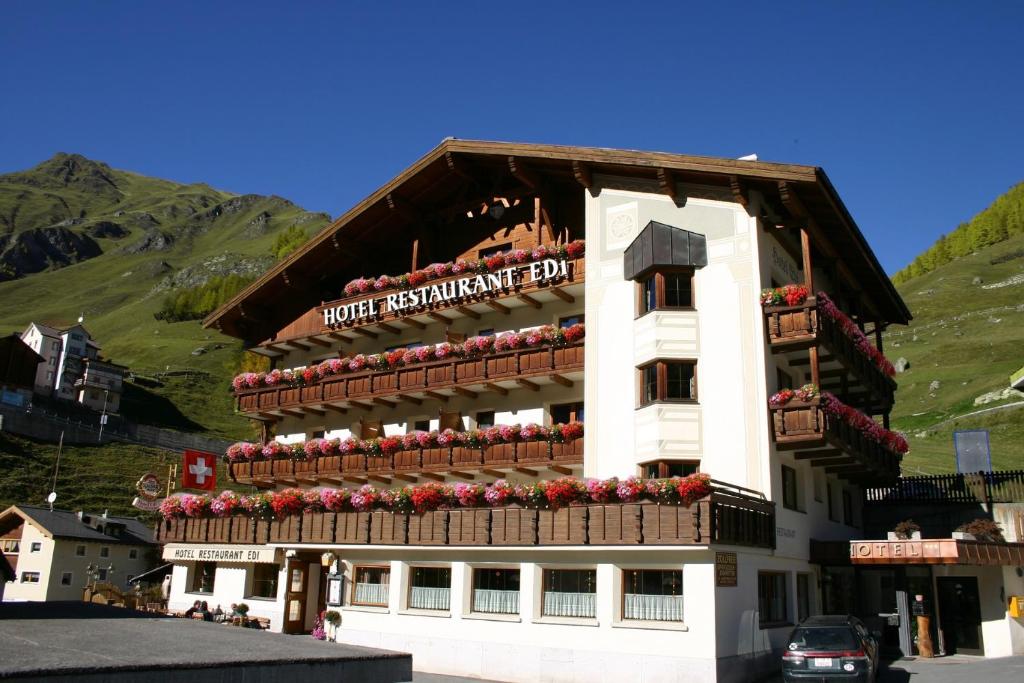
[[[874,398],[874,405],[885,409],[884,412],[892,408],[896,383],[856,347],[835,321],[818,311],[814,297],[808,297],[799,306],[765,307],[764,314],[773,351],[821,345],[863,385]],[[827,388],[840,389],[838,386]]]

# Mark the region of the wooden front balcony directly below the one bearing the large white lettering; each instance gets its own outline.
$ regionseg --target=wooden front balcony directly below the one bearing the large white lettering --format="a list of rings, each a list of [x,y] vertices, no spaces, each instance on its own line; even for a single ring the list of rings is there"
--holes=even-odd
[[[583,379],[584,342],[521,348],[479,357],[453,357],[384,372],[326,377],[305,386],[274,386],[236,392],[238,409],[254,417],[303,417],[325,410],[370,411],[397,401],[447,400],[480,391],[538,390],[541,384],[572,386]]]

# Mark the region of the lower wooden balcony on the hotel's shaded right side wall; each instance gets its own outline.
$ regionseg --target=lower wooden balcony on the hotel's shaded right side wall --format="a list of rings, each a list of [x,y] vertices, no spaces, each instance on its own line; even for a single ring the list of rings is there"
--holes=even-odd
[[[899,476],[900,456],[868,438],[821,407],[821,399],[793,400],[769,408],[780,450],[799,450],[798,460],[810,460],[828,474],[879,485]]]

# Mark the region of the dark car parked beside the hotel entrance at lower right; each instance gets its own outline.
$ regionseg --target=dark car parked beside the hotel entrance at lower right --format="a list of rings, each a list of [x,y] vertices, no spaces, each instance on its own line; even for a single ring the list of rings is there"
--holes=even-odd
[[[782,654],[786,683],[873,683],[878,673],[878,639],[856,616],[809,616],[790,634]]]

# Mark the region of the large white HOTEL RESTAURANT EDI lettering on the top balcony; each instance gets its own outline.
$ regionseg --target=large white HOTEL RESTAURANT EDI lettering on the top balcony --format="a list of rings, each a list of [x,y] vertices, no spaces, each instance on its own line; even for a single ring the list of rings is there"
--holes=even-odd
[[[460,299],[495,295],[527,283],[546,283],[568,276],[565,259],[546,258],[495,272],[471,274],[416,289],[400,290],[384,296],[324,309],[324,326],[352,325],[368,322],[384,313],[396,317],[411,315],[419,308],[444,305]]]

